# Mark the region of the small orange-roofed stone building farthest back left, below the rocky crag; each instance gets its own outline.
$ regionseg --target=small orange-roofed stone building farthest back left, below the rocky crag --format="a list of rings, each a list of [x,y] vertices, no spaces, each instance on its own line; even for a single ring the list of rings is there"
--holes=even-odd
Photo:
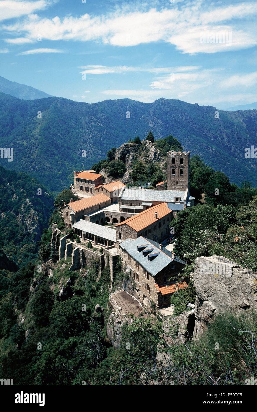
[[[103,183],[103,175],[94,171],[75,171],[74,175],[74,190],[78,197],[94,196],[95,188]]]

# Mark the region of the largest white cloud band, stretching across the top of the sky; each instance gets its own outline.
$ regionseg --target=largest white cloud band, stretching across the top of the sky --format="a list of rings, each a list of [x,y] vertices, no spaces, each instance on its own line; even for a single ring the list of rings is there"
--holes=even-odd
[[[133,12],[131,8],[119,7],[106,15],[84,14],[62,19],[30,14],[5,29],[24,33],[31,39],[40,34],[46,40],[94,40],[123,47],[163,41],[190,54],[245,49],[256,44],[256,2],[227,6],[195,0],[171,3],[160,10],[146,10],[146,7],[146,4],[133,5]],[[213,35],[231,33],[232,39],[230,42],[201,42],[200,38],[207,32]]]

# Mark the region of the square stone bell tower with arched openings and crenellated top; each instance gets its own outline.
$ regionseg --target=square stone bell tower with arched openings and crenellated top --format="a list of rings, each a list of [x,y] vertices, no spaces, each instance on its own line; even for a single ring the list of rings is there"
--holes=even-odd
[[[167,190],[186,190],[189,192],[190,152],[167,153]]]

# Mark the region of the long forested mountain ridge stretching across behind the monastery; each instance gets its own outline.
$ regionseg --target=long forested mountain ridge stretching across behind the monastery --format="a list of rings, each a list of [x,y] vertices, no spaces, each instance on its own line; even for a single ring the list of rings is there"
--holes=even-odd
[[[1,147],[14,148],[13,162],[0,162],[57,192],[69,186],[75,169],[90,168],[112,147],[137,135],[142,139],[151,130],[155,138],[173,134],[185,150],[200,155],[232,182],[249,180],[257,186],[256,159],[244,157],[246,147],[257,146],[257,111],[219,110],[218,119],[215,112],[212,106],[164,98],[154,103],[120,99],[89,104],[57,97],[25,101],[0,94]]]

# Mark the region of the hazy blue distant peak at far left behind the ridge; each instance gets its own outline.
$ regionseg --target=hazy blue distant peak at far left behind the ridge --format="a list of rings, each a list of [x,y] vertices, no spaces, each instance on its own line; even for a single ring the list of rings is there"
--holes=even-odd
[[[34,87],[26,86],[26,84],[19,84],[11,82],[0,76],[0,92],[10,94],[24,100],[42,99],[44,97],[50,97],[50,94],[34,89]]]

